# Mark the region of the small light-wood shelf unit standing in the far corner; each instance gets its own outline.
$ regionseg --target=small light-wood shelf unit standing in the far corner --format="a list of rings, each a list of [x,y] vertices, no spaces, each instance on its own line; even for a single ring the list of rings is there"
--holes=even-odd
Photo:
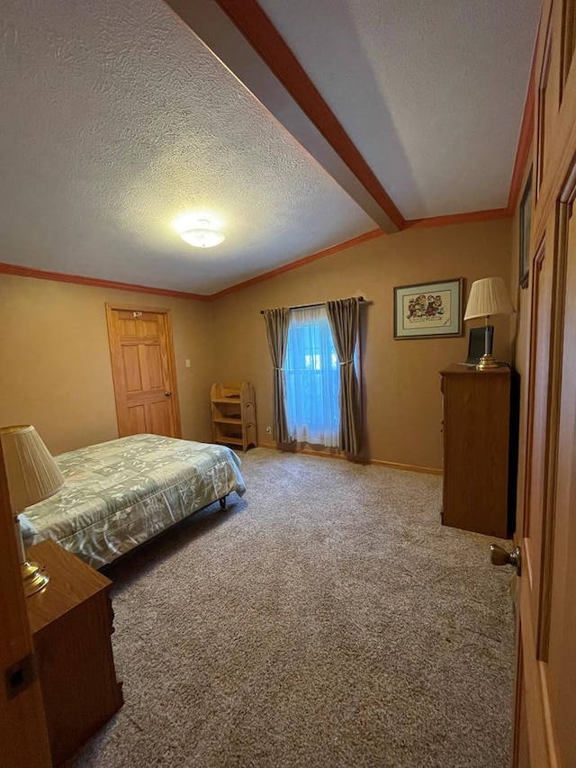
[[[248,382],[212,384],[212,439],[247,450],[257,445],[254,387]]]

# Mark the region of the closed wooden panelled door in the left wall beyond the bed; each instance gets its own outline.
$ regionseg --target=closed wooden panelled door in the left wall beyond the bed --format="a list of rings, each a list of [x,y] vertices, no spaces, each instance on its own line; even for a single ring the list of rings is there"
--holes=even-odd
[[[181,437],[168,310],[106,305],[120,437]]]

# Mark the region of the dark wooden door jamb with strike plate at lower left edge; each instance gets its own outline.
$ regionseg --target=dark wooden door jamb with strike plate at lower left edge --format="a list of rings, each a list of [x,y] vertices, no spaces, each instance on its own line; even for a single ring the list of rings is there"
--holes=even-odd
[[[32,639],[0,447],[0,765],[49,768]],[[26,663],[23,660],[28,659]],[[29,679],[27,680],[27,676]]]

